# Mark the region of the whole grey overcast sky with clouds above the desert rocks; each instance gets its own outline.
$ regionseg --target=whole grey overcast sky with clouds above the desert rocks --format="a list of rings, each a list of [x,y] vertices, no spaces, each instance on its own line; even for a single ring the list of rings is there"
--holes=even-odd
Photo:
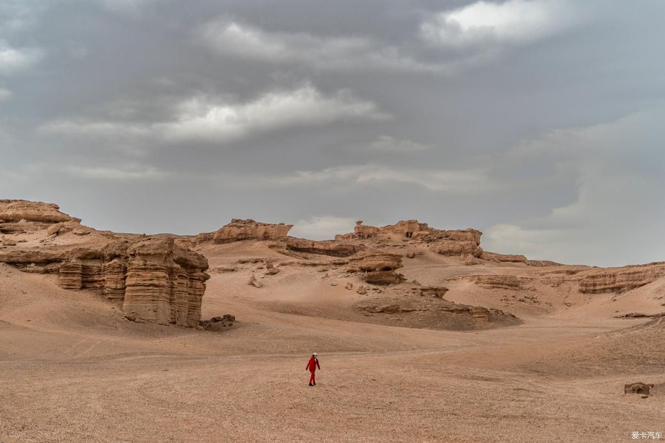
[[[665,2],[0,0],[0,198],[665,260]]]

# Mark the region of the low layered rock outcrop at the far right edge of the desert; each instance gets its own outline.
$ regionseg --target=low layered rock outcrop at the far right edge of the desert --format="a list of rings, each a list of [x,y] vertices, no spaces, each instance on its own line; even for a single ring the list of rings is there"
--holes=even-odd
[[[579,279],[580,292],[598,294],[629,291],[660,277],[665,277],[665,262],[591,269],[577,273],[575,279]]]

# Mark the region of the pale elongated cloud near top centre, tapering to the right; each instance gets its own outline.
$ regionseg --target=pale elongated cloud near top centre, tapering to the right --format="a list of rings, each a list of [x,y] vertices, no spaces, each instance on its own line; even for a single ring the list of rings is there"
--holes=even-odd
[[[396,46],[366,37],[275,33],[225,19],[207,23],[199,38],[222,55],[273,63],[307,63],[318,69],[445,72],[446,64],[420,62]]]

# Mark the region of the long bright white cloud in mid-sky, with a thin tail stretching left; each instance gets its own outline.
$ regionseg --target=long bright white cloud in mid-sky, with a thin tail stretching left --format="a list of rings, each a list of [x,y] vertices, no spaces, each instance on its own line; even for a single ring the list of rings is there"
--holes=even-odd
[[[182,102],[177,120],[156,124],[58,120],[41,132],[78,137],[154,138],[227,142],[279,128],[323,126],[336,121],[386,120],[376,104],[355,98],[347,90],[325,95],[311,84],[296,90],[269,92],[247,103],[219,104],[205,97]]]

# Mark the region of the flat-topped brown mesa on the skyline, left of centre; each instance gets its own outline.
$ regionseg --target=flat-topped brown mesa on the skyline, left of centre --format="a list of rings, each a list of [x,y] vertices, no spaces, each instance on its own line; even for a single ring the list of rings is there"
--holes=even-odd
[[[215,232],[199,233],[196,243],[214,241],[215,243],[232,243],[241,240],[276,240],[285,241],[293,225],[285,223],[261,223],[254,220],[231,219],[231,223],[223,225]]]

